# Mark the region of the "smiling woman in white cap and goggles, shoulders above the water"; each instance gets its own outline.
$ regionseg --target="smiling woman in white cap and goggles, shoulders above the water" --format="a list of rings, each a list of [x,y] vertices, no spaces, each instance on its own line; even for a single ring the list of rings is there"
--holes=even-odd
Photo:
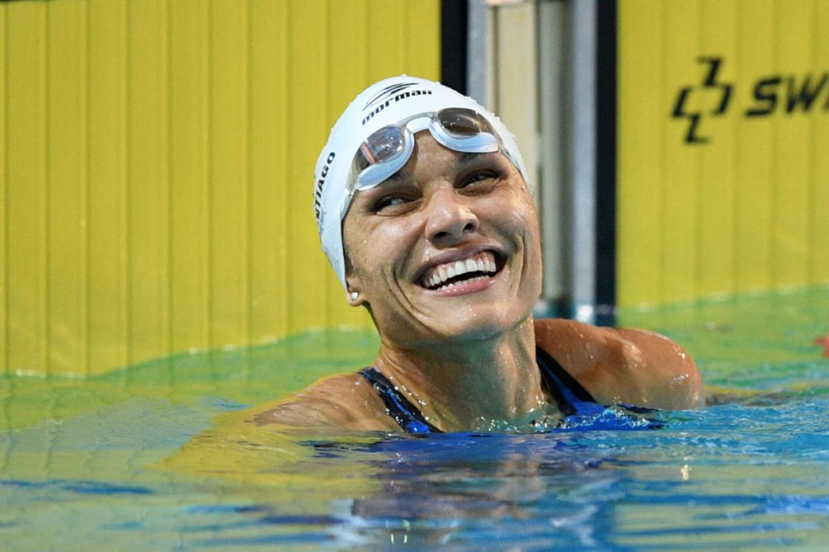
[[[526,177],[511,133],[473,99],[408,76],[358,95],[319,157],[314,204],[322,249],[380,351],[253,421],[428,433],[697,407],[699,372],[666,337],[533,320],[541,247]]]

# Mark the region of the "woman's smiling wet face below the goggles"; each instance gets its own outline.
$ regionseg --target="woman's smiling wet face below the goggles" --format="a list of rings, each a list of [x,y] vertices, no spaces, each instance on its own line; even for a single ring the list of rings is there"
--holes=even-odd
[[[347,283],[398,346],[483,339],[541,294],[536,208],[502,153],[458,153],[418,133],[405,167],[356,193],[343,221]]]

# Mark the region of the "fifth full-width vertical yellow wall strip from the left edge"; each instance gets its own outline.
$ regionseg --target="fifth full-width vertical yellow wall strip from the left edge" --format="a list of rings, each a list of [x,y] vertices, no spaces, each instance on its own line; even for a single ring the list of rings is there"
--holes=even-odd
[[[210,346],[206,2],[170,2],[170,342]]]

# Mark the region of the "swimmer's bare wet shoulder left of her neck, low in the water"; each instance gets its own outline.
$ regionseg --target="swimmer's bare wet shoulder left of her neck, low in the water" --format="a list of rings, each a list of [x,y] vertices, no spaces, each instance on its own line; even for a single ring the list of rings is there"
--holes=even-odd
[[[259,406],[250,417],[258,425],[305,429],[386,431],[385,406],[358,373],[331,375],[284,399]]]

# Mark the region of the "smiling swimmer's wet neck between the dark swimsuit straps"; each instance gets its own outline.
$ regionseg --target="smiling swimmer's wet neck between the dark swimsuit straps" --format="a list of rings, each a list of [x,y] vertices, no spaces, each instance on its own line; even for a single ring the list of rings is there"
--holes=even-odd
[[[509,423],[545,401],[531,318],[486,340],[416,349],[384,340],[376,366],[443,431]]]

